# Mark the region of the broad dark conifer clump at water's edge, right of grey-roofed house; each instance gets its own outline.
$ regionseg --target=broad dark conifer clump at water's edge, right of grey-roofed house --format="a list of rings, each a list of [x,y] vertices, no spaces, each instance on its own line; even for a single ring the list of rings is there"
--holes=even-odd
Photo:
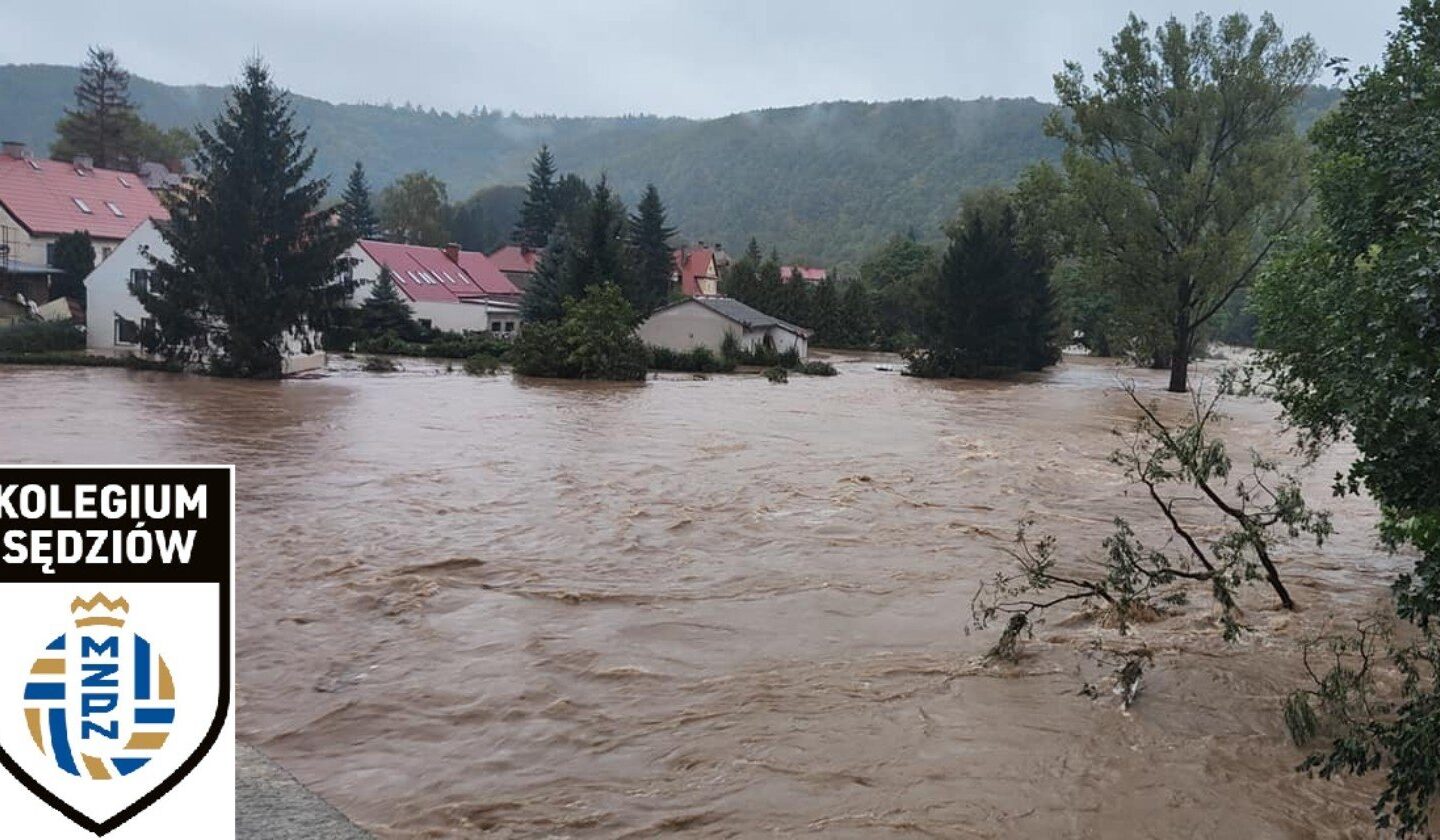
[[[1060,360],[1050,265],[1024,242],[1007,193],[971,196],[950,226],[922,344],[906,353],[916,376],[999,376]]]

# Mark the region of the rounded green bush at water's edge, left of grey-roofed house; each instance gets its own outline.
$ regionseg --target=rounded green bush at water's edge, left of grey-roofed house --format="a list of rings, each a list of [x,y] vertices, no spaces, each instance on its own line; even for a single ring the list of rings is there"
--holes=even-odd
[[[559,321],[526,324],[510,360],[523,376],[645,379],[645,344],[635,334],[635,310],[613,282],[566,298]]]

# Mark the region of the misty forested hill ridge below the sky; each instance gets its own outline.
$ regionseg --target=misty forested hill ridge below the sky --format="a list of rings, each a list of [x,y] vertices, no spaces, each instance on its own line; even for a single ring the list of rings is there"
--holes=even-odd
[[[0,135],[48,153],[78,78],[68,66],[0,66]],[[147,120],[168,128],[210,121],[226,89],[134,76],[131,94]],[[1308,127],[1338,97],[1315,88],[1297,122]],[[739,251],[756,236],[822,265],[852,267],[896,232],[937,236],[965,190],[1009,183],[1060,154],[1041,130],[1053,105],[1035,99],[824,102],[714,120],[456,115],[300,94],[294,104],[317,171],[336,192],[360,160],[377,190],[425,169],[458,200],[524,183],[536,148],[549,143],[562,171],[605,171],[628,202],[654,182],[691,239]]]

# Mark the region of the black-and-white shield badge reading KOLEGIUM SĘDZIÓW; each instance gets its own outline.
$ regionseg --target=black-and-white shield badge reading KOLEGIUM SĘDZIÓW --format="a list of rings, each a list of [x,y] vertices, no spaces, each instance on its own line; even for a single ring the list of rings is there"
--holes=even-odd
[[[232,467],[0,467],[0,765],[96,836],[230,715],[233,487]]]

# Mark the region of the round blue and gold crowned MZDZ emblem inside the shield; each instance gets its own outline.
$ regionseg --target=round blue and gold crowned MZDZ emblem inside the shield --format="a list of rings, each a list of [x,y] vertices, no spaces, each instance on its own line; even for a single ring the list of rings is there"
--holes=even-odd
[[[176,719],[170,666],[125,625],[124,598],[75,598],[75,628],[30,667],[24,720],[36,748],[71,775],[96,781],[140,771]]]

